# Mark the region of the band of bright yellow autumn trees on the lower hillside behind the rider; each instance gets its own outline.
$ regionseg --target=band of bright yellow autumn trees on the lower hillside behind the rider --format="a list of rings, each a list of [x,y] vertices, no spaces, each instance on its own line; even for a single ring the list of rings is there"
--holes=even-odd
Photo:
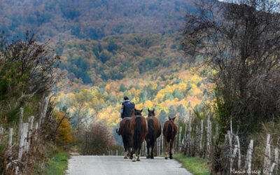
[[[151,48],[153,50],[154,48]],[[125,54],[125,53],[124,53]],[[116,59],[124,59],[127,55],[118,55]],[[176,56],[176,55],[174,55]],[[135,59],[135,62],[139,63],[138,57],[131,57]],[[143,59],[139,57],[139,59]],[[137,63],[136,63],[137,64]],[[59,94],[58,101],[64,101],[65,104],[70,102],[69,112],[73,112],[77,109],[77,106],[82,106],[90,111],[90,116],[94,116],[94,122],[105,123],[107,127],[114,127],[120,122],[120,108],[124,95],[130,97],[131,102],[134,102],[137,109],[150,108],[156,109],[157,115],[160,111],[165,110],[167,113],[170,106],[179,106],[182,104],[187,110],[193,110],[195,106],[201,104],[204,101],[209,102],[209,97],[204,97],[203,92],[206,89],[207,92],[211,92],[213,87],[211,83],[204,83],[206,77],[200,77],[198,69],[181,69],[179,72],[172,73],[170,75],[162,75],[166,70],[159,70],[157,74],[141,74],[135,73],[133,77],[123,78],[122,80],[108,80],[106,86],[102,90],[101,87],[92,86],[88,90],[80,90],[79,92],[73,92],[66,94],[66,92]],[[105,71],[105,74],[109,71]],[[214,73],[211,71],[209,73]],[[153,78],[152,78],[153,76]],[[164,80],[162,80],[164,77]],[[100,78],[100,77],[99,77]],[[181,83],[180,83],[181,82]],[[120,92],[120,85],[124,84],[128,89],[126,92]],[[197,84],[200,83],[198,86]],[[130,87],[132,85],[132,87]],[[137,86],[139,89],[137,90]],[[144,86],[152,85],[153,92],[156,92],[154,98],[148,97],[146,102],[143,102],[141,92]],[[158,91],[158,85],[160,90]],[[150,88],[150,87],[149,87]],[[150,89],[151,90],[151,89]],[[180,90],[181,94],[175,90]],[[169,94],[165,98],[166,94]],[[172,97],[173,95],[173,97]],[[108,99],[113,97],[113,102]],[[213,103],[213,102],[212,102]],[[191,104],[191,106],[190,106]],[[189,108],[187,108],[189,106]]]

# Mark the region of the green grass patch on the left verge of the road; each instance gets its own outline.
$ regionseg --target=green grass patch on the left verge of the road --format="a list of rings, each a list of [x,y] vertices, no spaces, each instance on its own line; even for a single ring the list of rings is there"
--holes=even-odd
[[[60,175],[64,174],[67,168],[69,153],[59,152],[50,158],[49,162],[45,166],[46,174]]]

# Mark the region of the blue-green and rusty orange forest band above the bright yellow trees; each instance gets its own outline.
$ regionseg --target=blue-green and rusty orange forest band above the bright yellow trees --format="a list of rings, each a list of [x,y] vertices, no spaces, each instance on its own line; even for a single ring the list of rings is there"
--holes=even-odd
[[[180,39],[179,34],[123,34],[98,41],[73,39],[54,48],[62,55],[61,69],[69,80],[100,85],[145,73],[156,72],[158,78],[186,68]]]

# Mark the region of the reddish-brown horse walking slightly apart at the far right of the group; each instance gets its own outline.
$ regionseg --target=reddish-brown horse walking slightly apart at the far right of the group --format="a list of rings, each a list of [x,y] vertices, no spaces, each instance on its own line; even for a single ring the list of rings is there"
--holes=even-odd
[[[174,123],[176,117],[174,118],[168,117],[168,118],[169,120],[165,122],[162,133],[165,136],[165,159],[167,159],[167,151],[168,151],[169,144],[170,144],[169,158],[172,159],[172,149],[177,134],[177,126]]]

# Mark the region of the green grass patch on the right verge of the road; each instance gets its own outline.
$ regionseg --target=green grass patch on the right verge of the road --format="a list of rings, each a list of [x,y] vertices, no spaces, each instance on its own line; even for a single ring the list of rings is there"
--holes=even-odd
[[[188,169],[195,175],[208,175],[210,174],[210,165],[207,165],[207,160],[202,158],[188,158],[186,155],[176,154],[174,159],[182,163],[183,167]]]

